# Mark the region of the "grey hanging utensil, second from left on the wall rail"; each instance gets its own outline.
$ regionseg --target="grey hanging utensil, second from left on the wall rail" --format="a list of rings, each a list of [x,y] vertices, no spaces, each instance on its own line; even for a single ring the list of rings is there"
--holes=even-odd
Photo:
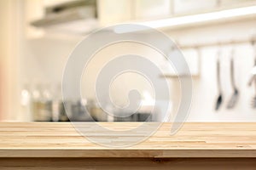
[[[231,86],[233,88],[233,94],[230,98],[230,101],[227,105],[227,109],[232,109],[235,107],[237,100],[239,98],[239,92],[236,88],[236,82],[235,82],[235,73],[234,73],[234,49],[231,50],[231,58],[230,58],[230,80],[231,80]]]

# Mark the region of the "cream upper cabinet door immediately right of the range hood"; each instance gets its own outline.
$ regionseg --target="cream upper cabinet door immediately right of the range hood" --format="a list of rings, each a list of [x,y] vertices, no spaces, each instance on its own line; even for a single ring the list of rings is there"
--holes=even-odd
[[[98,18],[102,26],[131,20],[131,0],[98,0]]]

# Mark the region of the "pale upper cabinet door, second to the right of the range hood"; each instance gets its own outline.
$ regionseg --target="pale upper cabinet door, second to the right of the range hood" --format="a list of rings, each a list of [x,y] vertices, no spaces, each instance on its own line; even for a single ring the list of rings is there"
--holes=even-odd
[[[172,14],[171,0],[135,0],[134,3],[137,20],[165,18]]]

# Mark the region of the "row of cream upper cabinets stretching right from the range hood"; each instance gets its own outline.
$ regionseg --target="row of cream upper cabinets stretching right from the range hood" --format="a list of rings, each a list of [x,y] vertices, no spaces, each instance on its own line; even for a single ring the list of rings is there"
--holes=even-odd
[[[97,0],[100,26],[129,21],[158,20],[235,8],[256,0]]]

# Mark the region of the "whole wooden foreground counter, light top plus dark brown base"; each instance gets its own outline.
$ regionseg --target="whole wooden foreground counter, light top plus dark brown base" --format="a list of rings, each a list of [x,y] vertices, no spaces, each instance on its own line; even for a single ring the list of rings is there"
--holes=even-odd
[[[90,127],[90,123],[83,126]],[[101,124],[122,129],[136,127],[138,122]],[[18,169],[256,167],[256,123],[185,123],[173,136],[170,129],[171,123],[163,123],[153,136],[139,144],[108,148],[85,139],[67,122],[2,122],[0,169],[17,166]],[[102,135],[101,132],[93,134]],[[104,138],[111,142],[117,137],[104,134]]]

